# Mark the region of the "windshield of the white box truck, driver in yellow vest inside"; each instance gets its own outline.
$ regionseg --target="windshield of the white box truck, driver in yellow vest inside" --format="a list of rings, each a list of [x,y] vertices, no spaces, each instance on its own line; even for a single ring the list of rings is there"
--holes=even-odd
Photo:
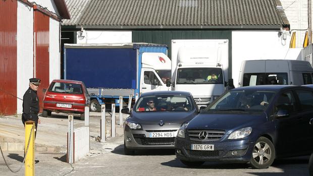
[[[223,84],[221,68],[181,68],[177,84]]]

